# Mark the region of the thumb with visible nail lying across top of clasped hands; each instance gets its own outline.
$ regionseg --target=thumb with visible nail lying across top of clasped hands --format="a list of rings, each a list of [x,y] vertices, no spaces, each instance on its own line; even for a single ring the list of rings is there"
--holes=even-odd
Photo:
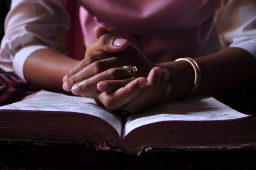
[[[124,51],[128,47],[128,40],[117,38],[110,34],[104,34],[90,43],[86,50],[85,57],[96,51],[104,51],[107,53],[118,53]]]

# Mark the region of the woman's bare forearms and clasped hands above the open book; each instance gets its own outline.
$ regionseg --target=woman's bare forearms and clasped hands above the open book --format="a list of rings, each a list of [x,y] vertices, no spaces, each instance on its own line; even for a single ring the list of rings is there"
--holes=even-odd
[[[180,99],[189,93],[195,76],[189,63],[172,61],[155,65],[148,62],[128,41],[118,47],[114,46],[117,36],[113,31],[98,27],[95,32],[98,40],[87,47],[87,54],[81,62],[67,59],[49,49],[31,54],[24,65],[24,75],[28,82],[38,88],[61,91],[61,79],[67,72],[63,78],[63,88],[66,91],[72,90],[73,94],[81,96],[89,93],[97,103],[110,110],[129,112],[144,111],[152,103]],[[93,59],[88,60],[88,57]],[[138,59],[146,64],[138,67],[138,78],[129,77],[126,69],[121,67],[138,65]],[[99,61],[102,60],[107,64],[100,65]],[[217,95],[233,91],[256,78],[256,59],[240,48],[225,48],[217,53],[195,58],[195,61],[202,72],[201,83],[195,95]],[[157,76],[160,74],[160,77]],[[162,76],[166,74],[168,80]],[[107,88],[102,88],[104,83]]]

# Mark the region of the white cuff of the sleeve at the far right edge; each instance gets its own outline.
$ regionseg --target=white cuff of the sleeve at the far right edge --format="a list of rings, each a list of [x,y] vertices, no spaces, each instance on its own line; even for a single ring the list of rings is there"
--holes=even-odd
[[[248,51],[250,54],[253,55],[253,57],[256,58],[256,41],[243,41],[240,43],[231,44],[230,47],[242,48]]]

